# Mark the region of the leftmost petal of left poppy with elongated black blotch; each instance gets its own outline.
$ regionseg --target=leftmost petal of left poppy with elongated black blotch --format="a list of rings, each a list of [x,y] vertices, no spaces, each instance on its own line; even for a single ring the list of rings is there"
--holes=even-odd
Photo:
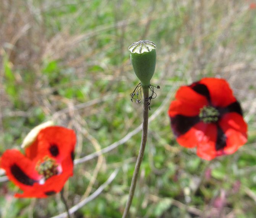
[[[15,168],[13,168],[14,166]],[[5,170],[8,178],[23,190],[30,189],[32,181],[37,181],[40,178],[34,169],[35,163],[16,149],[6,150],[3,153],[0,167]]]

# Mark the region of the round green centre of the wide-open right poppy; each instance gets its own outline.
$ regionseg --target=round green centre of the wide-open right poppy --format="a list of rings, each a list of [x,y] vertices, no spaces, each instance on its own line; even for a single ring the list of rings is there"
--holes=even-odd
[[[204,123],[214,123],[219,120],[220,112],[212,106],[204,106],[200,109],[199,117]]]

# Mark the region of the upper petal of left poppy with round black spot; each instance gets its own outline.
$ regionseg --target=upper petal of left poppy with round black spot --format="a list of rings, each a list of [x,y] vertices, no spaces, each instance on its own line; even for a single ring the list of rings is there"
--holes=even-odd
[[[36,144],[33,144],[34,147],[30,146],[26,149],[26,155],[34,157],[36,150],[37,159],[48,155],[60,163],[67,155],[70,157],[71,152],[75,149],[75,144],[76,135],[73,130],[57,126],[47,127],[39,132]],[[53,150],[51,150],[52,146],[54,146]]]

